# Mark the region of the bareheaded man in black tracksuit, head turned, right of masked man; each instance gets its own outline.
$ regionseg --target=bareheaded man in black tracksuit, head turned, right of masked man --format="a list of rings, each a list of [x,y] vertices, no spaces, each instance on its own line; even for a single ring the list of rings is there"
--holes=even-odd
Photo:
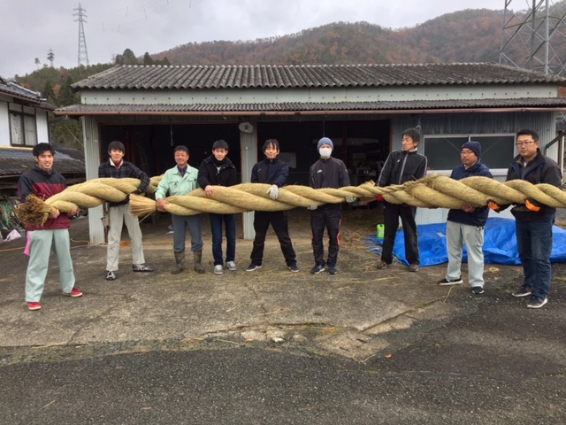
[[[409,128],[402,134],[402,150],[393,151],[386,159],[386,163],[379,174],[378,186],[386,187],[392,184],[403,184],[412,180],[418,180],[426,174],[426,157],[417,153],[420,142],[420,133],[416,128]],[[378,195],[378,201],[384,201]],[[419,254],[417,223],[415,215],[417,207],[411,205],[385,204],[385,234],[383,238],[383,251],[378,268],[389,267],[393,263],[393,247],[395,235],[399,227],[401,217],[403,234],[405,236],[405,256],[409,261],[409,270],[418,271]]]

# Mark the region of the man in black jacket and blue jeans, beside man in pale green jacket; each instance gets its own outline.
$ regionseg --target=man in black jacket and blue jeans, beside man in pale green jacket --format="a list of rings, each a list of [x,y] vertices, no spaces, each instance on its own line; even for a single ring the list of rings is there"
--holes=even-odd
[[[198,169],[196,182],[204,190],[206,197],[212,197],[214,186],[233,186],[236,184],[236,167],[228,155],[228,143],[217,140],[212,144],[212,155],[204,158]],[[222,221],[226,228],[226,266],[236,270],[236,216],[235,214],[210,213],[210,231],[212,232],[212,256],[214,274],[224,274],[222,259]]]

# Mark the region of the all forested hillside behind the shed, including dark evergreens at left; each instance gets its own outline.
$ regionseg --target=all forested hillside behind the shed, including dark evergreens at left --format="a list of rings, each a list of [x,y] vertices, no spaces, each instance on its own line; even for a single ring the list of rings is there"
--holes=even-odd
[[[555,3],[562,16],[566,0]],[[447,13],[416,27],[391,29],[367,22],[337,22],[297,34],[251,42],[189,42],[162,52],[136,57],[130,49],[116,55],[114,64],[65,69],[43,66],[17,76],[24,87],[39,91],[57,106],[79,103],[71,85],[113,65],[348,65],[417,64],[430,62],[497,62],[501,46],[503,11],[486,9]],[[530,33],[529,35],[530,36]],[[527,37],[528,38],[528,37]],[[558,58],[566,58],[566,35],[553,39]],[[508,50],[516,64],[529,56],[528,42]],[[57,52],[55,52],[57,53]],[[51,62],[52,63],[52,62]],[[80,143],[78,121],[53,123],[53,140]]]

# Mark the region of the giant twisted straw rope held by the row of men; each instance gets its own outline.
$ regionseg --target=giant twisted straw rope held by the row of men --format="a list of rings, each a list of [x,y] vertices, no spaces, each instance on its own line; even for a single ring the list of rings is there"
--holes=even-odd
[[[161,177],[151,178],[149,193],[156,191]],[[138,179],[93,179],[71,186],[45,202],[30,196],[27,202],[19,206],[19,220],[42,224],[55,209],[68,213],[78,206],[92,208],[105,201],[119,202],[126,199],[139,185]],[[382,195],[392,204],[424,208],[458,209],[463,203],[478,207],[486,205],[490,199],[499,205],[520,205],[524,204],[527,197],[544,205],[566,208],[566,193],[555,186],[545,183],[533,185],[524,180],[501,183],[487,177],[468,177],[455,181],[446,175],[431,174],[414,182],[385,188],[377,187],[373,182],[340,189],[312,189],[291,185],[279,189],[277,200],[269,197],[267,191],[270,186],[263,183],[242,183],[228,188],[215,186],[210,198],[206,197],[203,189],[195,189],[184,196],[166,197],[169,204],[165,210],[179,215],[283,211],[295,207],[339,204],[348,197],[371,202],[376,195]],[[130,208],[134,215],[145,216],[154,213],[157,205],[151,198],[130,195]]]

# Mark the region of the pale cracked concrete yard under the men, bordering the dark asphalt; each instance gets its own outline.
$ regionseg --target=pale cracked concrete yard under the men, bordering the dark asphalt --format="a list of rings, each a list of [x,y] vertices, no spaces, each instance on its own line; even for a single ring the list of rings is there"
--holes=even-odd
[[[313,265],[309,216],[298,210],[289,215],[299,273],[287,270],[271,233],[264,267],[245,271],[251,241],[239,239],[238,270],[212,274],[210,228],[204,220],[207,273],[196,274],[189,256],[187,270],[172,275],[172,236],[166,235],[169,221],[164,216],[157,226],[142,226],[146,261],[156,271],[134,273],[126,246],[121,250],[118,279],[112,282],[104,280],[106,247],[88,246],[87,220],[75,220],[72,255],[76,285],[84,296],[61,297],[57,262],[51,258],[42,309],[37,312],[28,311],[24,302],[27,257],[19,249],[23,238],[4,243],[0,245],[4,269],[0,346],[182,341],[225,335],[238,343],[280,338],[282,344],[308,345],[313,351],[358,361],[376,352],[394,351],[396,345],[388,335],[418,323],[440,326],[460,307],[446,302],[447,288],[432,284],[443,276],[445,266],[423,267],[418,273],[409,273],[399,264],[383,271],[375,268],[378,256],[363,243],[363,237],[375,229],[375,214],[375,210],[344,212],[336,275],[309,273]],[[498,267],[492,274],[513,268]]]

